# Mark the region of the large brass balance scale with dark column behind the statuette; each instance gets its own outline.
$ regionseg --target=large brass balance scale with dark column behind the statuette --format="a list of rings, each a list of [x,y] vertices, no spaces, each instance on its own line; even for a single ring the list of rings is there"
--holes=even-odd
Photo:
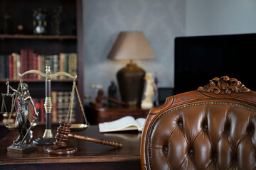
[[[70,96],[70,103],[69,103],[69,107],[68,107],[68,115],[66,118],[66,122],[71,123],[71,118],[73,115],[73,102],[74,102],[74,98],[75,98],[75,93],[78,96],[78,101],[80,103],[80,108],[82,111],[82,115],[83,118],[85,120],[85,124],[71,124],[70,130],[85,130],[87,127],[89,127],[89,123],[87,122],[87,118],[85,116],[85,111],[84,108],[82,107],[82,102],[80,99],[80,95],[78,93],[78,87],[76,86],[76,78],[77,76],[73,77],[72,75],[66,73],[66,72],[57,72],[55,74],[51,74],[50,73],[50,66],[46,66],[46,73],[40,72],[38,70],[28,70],[27,72],[24,72],[23,74],[19,74],[20,77],[20,82],[18,84],[18,89],[20,88],[20,85],[23,82],[22,77],[25,74],[40,74],[41,77],[45,77],[46,78],[46,99],[45,99],[45,103],[44,103],[44,108],[46,111],[46,130],[43,134],[43,137],[39,137],[38,139],[34,140],[33,143],[34,144],[40,144],[40,145],[52,145],[53,142],[55,141],[54,137],[53,137],[53,132],[51,130],[51,110],[52,110],[52,102],[51,102],[51,97],[50,97],[50,89],[51,89],[51,84],[50,84],[50,80],[53,77],[59,77],[59,76],[66,76],[66,77],[70,77],[71,79],[73,79],[73,88],[71,91],[71,96]],[[16,114],[16,98],[17,96],[15,96],[14,94],[10,94],[9,93],[9,84],[7,85],[7,93],[6,94],[1,94],[2,95],[2,104],[1,104],[1,114],[9,114],[9,118],[7,120],[6,123],[6,128],[8,128],[9,130],[18,130],[18,128],[15,127],[15,123],[10,123],[10,119],[12,115]],[[6,109],[6,104],[5,104],[5,97],[9,96],[12,98],[11,101],[11,111],[8,112]],[[31,123],[31,128],[33,128],[34,126],[36,126],[36,123]]]

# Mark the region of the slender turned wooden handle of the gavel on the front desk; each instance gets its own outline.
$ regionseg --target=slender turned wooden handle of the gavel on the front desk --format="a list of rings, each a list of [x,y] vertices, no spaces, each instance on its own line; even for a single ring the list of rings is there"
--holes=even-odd
[[[78,140],[85,140],[85,141],[90,141],[90,142],[95,142],[95,143],[99,143],[102,145],[109,145],[111,147],[122,147],[122,144],[119,142],[114,142],[114,141],[109,141],[109,140],[101,140],[101,139],[97,139],[94,137],[87,137],[87,136],[80,136],[80,135],[75,135],[73,133],[69,133],[68,137],[72,137]]]

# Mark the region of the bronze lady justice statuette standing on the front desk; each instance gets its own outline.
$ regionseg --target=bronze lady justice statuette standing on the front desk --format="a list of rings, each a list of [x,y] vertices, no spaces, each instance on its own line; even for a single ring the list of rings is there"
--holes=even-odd
[[[11,87],[9,85],[9,81],[6,82],[6,85],[7,94],[9,94],[9,89],[11,89],[12,91],[14,91],[14,94],[11,94],[11,96],[16,96],[16,94],[18,95],[18,113],[16,115],[15,127],[18,128],[19,136],[16,140],[14,140],[13,145],[8,147],[8,151],[22,153],[27,150],[31,150],[32,148],[36,148],[36,146],[31,143],[31,139],[33,137],[31,125],[38,118],[38,113],[36,112],[36,107],[29,94],[28,84],[22,83],[20,91],[17,91],[13,87]],[[28,120],[29,102],[32,104],[33,110],[36,114],[36,116],[33,118],[32,123],[30,122],[30,120]]]

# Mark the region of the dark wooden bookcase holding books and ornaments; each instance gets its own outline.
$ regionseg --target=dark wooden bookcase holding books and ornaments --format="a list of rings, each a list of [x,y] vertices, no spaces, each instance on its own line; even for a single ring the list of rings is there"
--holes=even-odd
[[[55,35],[51,18],[53,11],[63,6],[63,22],[60,35]],[[33,34],[33,10],[47,9],[48,33],[46,35]],[[8,33],[0,28],[0,55],[21,52],[21,49],[32,49],[41,55],[54,55],[60,52],[78,54],[77,86],[80,98],[83,98],[83,52],[82,52],[82,0],[1,0],[0,21],[4,22],[3,14],[7,13]],[[22,35],[16,34],[18,23],[24,26]],[[9,79],[11,86],[16,88],[18,80]],[[0,79],[0,93],[6,92],[6,79]],[[45,81],[38,79],[23,79],[28,83],[28,90],[34,98],[45,97]],[[52,91],[71,91],[72,79],[53,80]],[[1,100],[1,99],[0,99]],[[9,104],[8,101],[6,103]],[[1,107],[1,106],[0,106]],[[80,106],[77,109],[77,123],[84,119]]]

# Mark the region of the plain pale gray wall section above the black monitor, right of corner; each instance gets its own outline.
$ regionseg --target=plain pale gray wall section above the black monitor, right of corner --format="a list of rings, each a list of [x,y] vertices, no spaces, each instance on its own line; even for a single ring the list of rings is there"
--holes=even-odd
[[[186,1],[186,35],[256,33],[255,0]]]

